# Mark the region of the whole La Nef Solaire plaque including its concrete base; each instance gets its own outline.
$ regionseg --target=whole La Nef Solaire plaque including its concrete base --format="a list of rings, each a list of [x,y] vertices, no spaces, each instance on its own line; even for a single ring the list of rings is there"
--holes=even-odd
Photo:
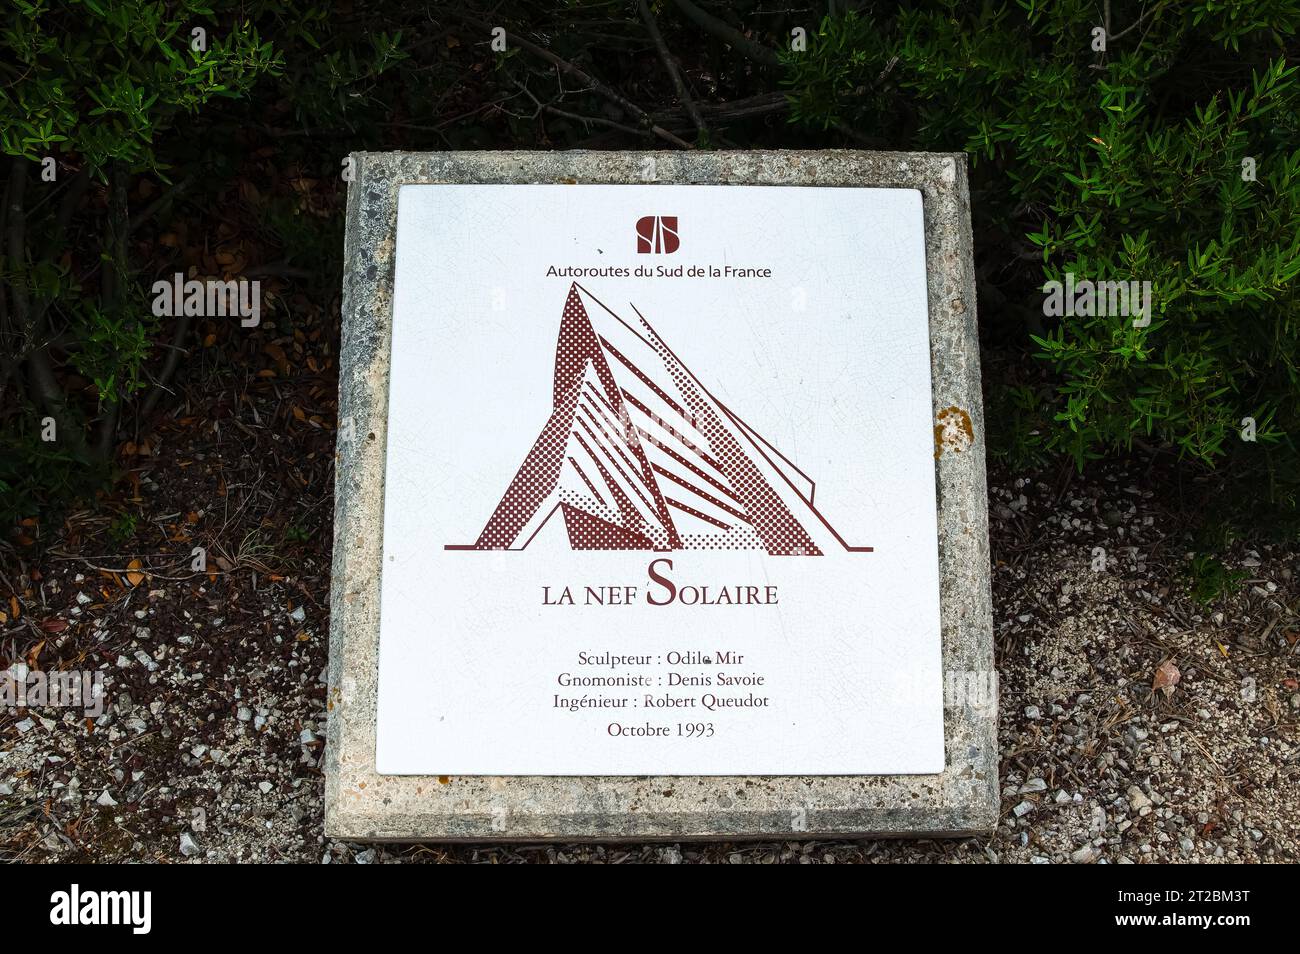
[[[330,833],[988,828],[963,159],[354,159]]]

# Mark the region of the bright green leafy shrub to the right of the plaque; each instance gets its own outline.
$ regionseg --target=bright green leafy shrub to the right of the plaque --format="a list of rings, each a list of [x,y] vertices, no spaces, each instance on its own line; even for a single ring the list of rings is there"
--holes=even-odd
[[[982,320],[1032,333],[1054,372],[988,382],[989,428],[1013,451],[1082,465],[1138,439],[1270,477],[1269,493],[1294,506],[1300,1],[1105,9],[1105,51],[1093,3],[824,19],[807,53],[783,57],[793,118],[971,153]],[[1066,273],[1149,281],[1149,326],[1046,316],[1039,289]]]

